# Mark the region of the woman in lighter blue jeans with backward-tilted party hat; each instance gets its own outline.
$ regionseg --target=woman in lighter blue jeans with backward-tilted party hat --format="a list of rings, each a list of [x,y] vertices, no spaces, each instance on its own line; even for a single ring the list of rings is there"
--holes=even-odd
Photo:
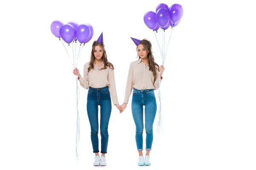
[[[146,39],[132,38],[137,45],[137,61],[131,62],[125,90],[125,100],[122,108],[125,109],[132,94],[131,111],[136,125],[136,144],[139,152],[138,165],[150,165],[149,153],[153,142],[153,124],[157,112],[157,102],[154,90],[157,90],[162,81],[164,67],[154,61],[151,51],[151,42]],[[143,157],[143,106],[145,106],[146,155]]]

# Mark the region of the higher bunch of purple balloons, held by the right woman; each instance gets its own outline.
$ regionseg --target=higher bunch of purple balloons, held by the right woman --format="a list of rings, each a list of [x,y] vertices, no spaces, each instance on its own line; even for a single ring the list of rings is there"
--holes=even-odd
[[[183,8],[180,4],[173,4],[170,8],[165,3],[160,3],[156,12],[148,11],[144,15],[144,23],[153,31],[159,28],[166,30],[175,27],[180,23],[183,16]]]

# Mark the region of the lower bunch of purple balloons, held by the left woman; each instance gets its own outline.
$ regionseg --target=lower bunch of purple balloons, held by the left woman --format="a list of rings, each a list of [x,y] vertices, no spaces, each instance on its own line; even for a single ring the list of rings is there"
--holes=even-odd
[[[63,24],[60,20],[55,20],[51,24],[51,31],[55,37],[62,38],[67,44],[72,41],[85,44],[93,37],[93,27],[90,24],[78,25],[73,21]]]

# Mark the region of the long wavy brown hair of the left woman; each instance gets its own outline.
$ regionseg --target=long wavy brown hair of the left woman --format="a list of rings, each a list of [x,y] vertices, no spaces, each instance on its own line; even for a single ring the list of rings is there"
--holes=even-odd
[[[90,63],[89,63],[90,66],[89,66],[89,68],[88,68],[88,72],[89,72],[91,69],[94,68],[93,62],[94,62],[95,57],[94,57],[94,54],[93,54],[93,53],[94,53],[94,48],[95,48],[95,46],[97,46],[97,45],[101,46],[102,49],[103,49],[102,61],[103,61],[103,63],[104,63],[104,67],[101,68],[101,70],[104,70],[104,69],[106,69],[107,67],[109,67],[109,68],[111,68],[111,69],[113,70],[113,69],[114,69],[113,64],[112,64],[111,62],[108,62],[108,57],[107,57],[107,53],[106,53],[106,50],[105,50],[105,45],[104,45],[103,43],[99,43],[99,42],[97,42],[97,41],[94,41],[94,42],[93,42],[93,45],[92,45],[91,55],[90,55]]]

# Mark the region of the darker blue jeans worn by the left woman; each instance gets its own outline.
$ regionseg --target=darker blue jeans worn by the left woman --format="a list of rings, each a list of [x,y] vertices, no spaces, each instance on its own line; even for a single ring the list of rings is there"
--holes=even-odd
[[[108,122],[111,115],[111,97],[108,87],[89,88],[87,95],[87,114],[91,127],[91,141],[93,144],[93,153],[99,152],[99,118],[98,112],[100,106],[100,135],[101,135],[101,153],[107,153],[108,148]]]

